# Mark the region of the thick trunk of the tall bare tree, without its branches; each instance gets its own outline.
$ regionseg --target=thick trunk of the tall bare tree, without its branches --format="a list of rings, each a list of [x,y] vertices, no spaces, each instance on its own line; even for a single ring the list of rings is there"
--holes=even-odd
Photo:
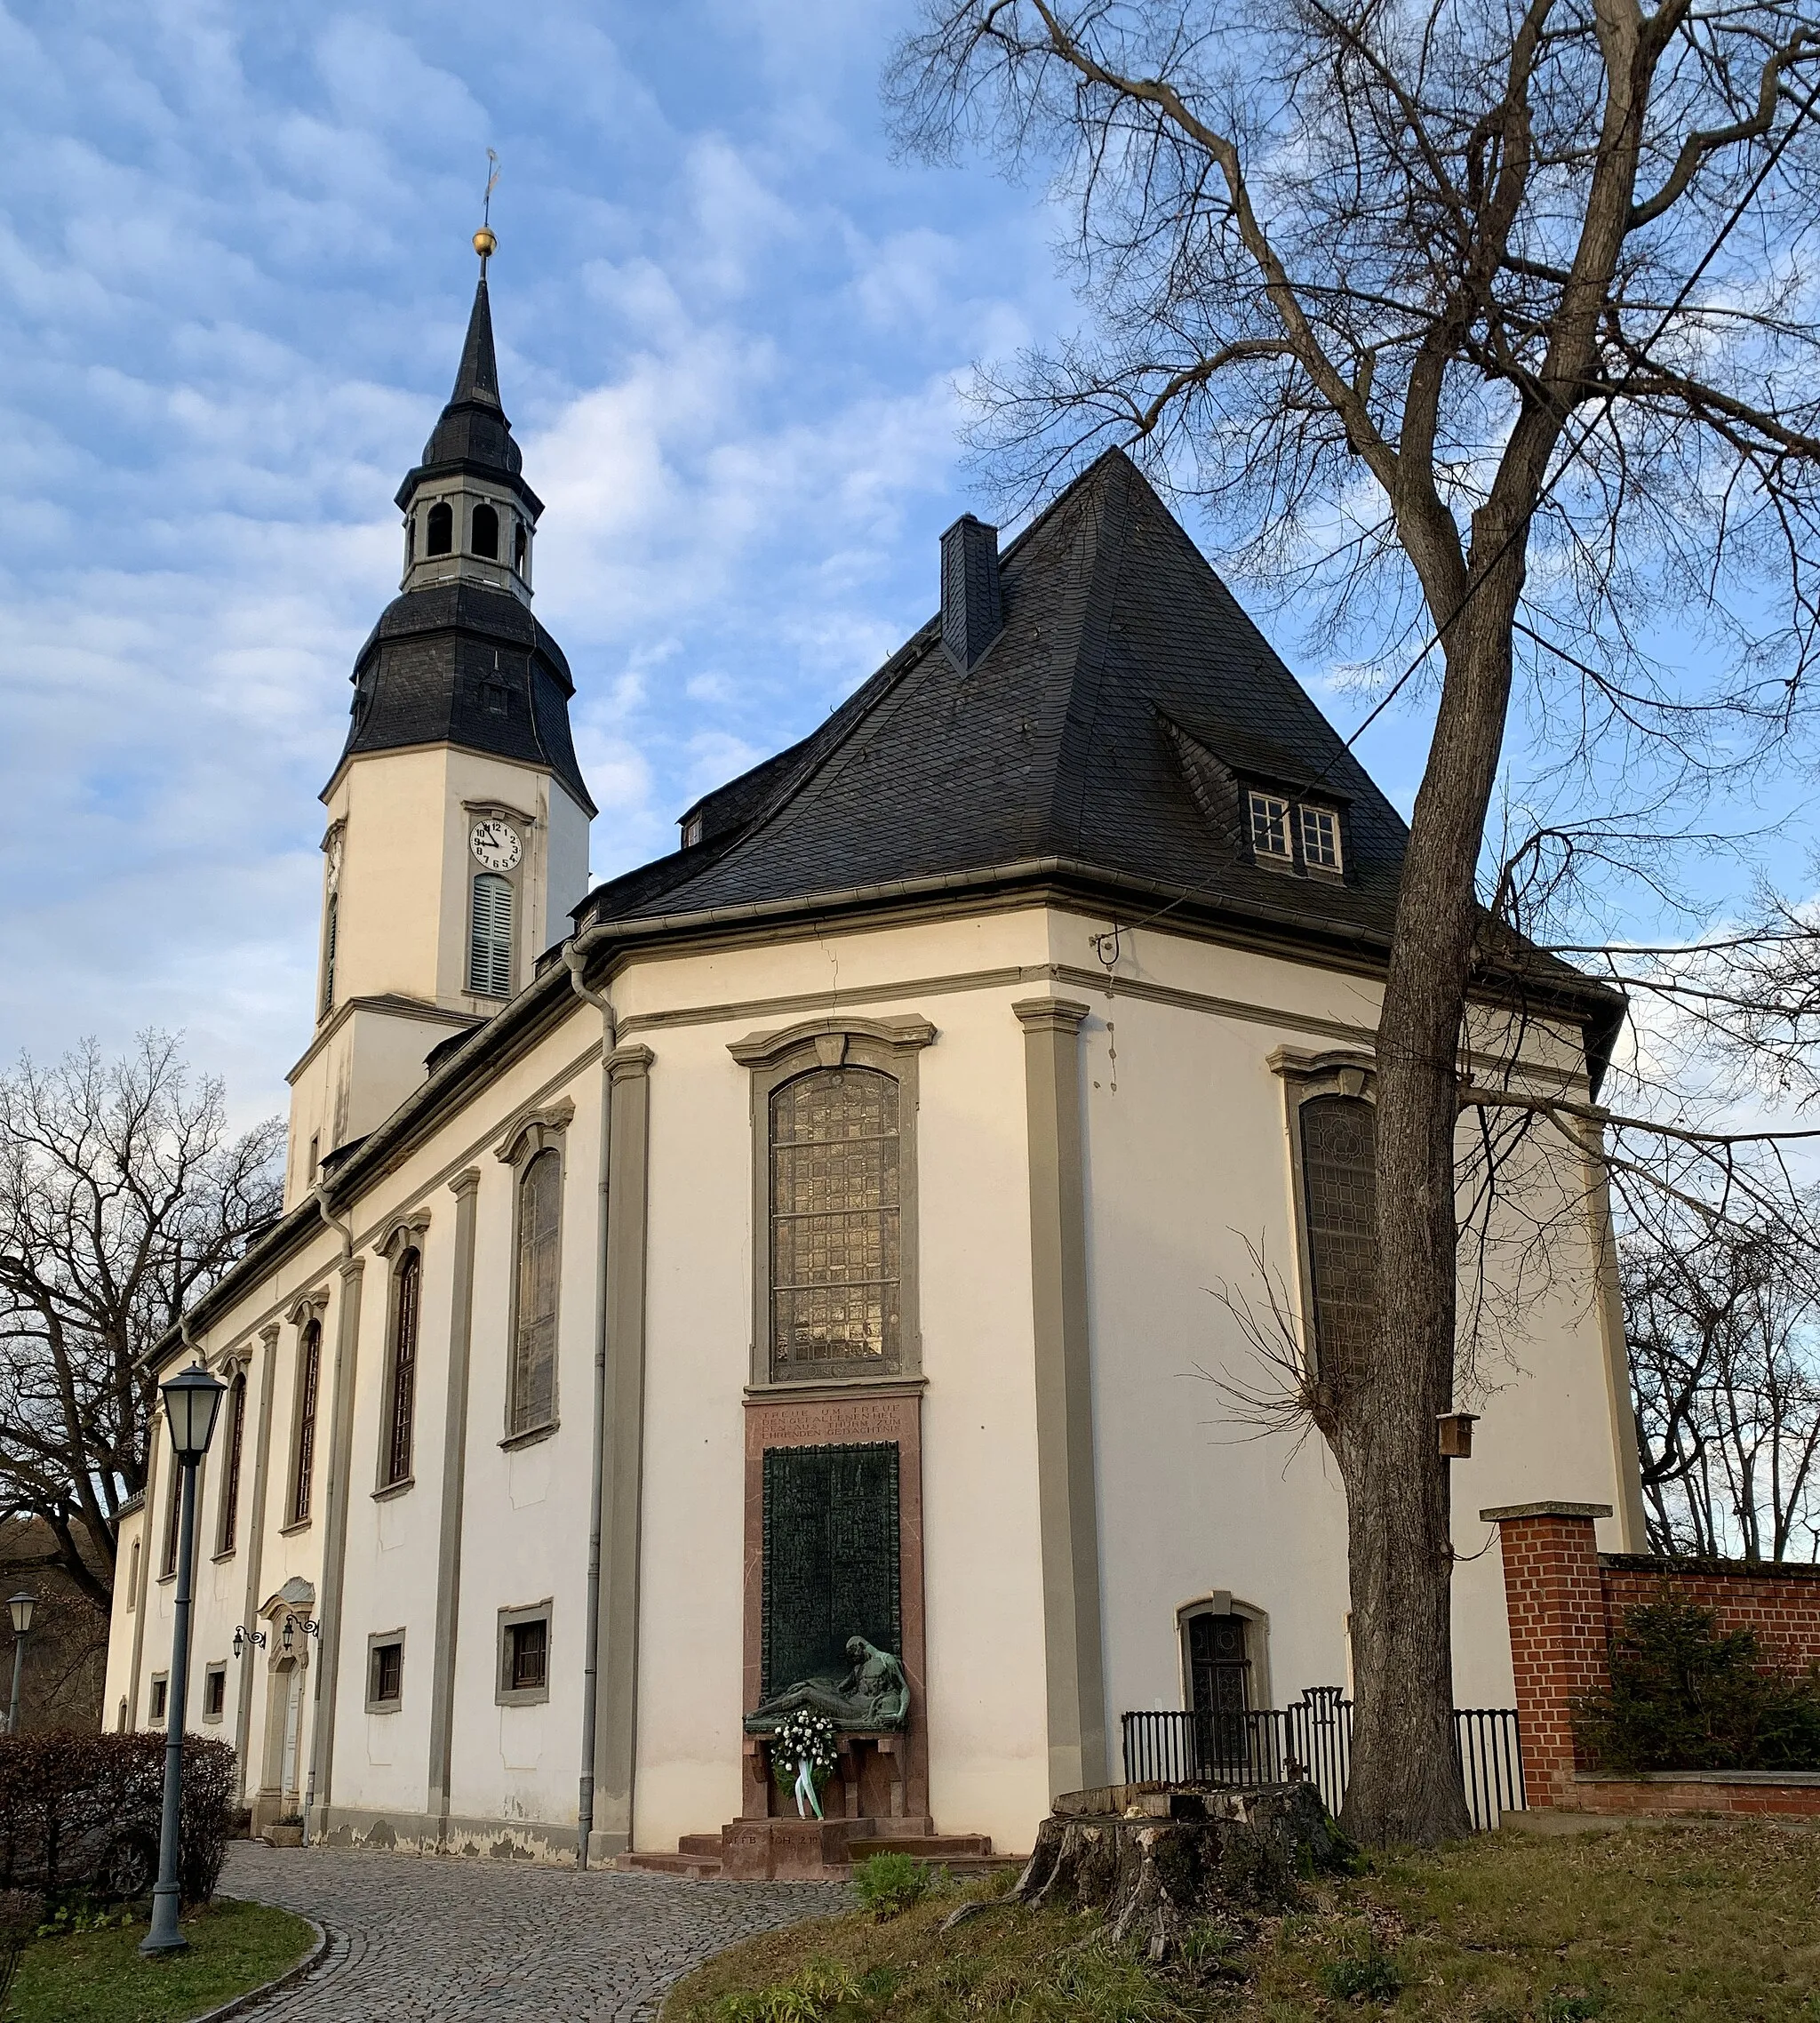
[[[1436,1414],[1454,1394],[1454,1125],[1474,878],[1523,583],[1523,542],[1474,534],[1498,558],[1448,631],[1377,1032],[1377,1347],[1335,1400],[1357,1701],[1341,1823],[1377,1845],[1470,1831],[1454,1746],[1454,1550]]]

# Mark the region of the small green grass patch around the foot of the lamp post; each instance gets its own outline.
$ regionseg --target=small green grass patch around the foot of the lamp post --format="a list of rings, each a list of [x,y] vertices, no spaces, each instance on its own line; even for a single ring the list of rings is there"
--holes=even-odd
[[[18,1962],[6,2023],[180,2023],[257,1989],[315,1944],[301,1918],[265,1904],[214,1904],[184,1918],[188,1952],[142,1960],[146,1922],[34,1938]]]

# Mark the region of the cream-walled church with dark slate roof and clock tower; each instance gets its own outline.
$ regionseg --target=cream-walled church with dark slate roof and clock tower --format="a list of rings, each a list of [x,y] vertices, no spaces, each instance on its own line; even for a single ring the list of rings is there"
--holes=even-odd
[[[190,1726],[255,1831],[766,1873],[775,1718],[823,1707],[827,1859],[1023,1851],[1122,1774],[1122,1716],[1347,1685],[1339,1477],[1236,1410],[1238,1315],[1323,1382],[1369,1325],[1405,827],[1114,451],[1003,546],[932,540],[930,619],[588,890],[475,243],[322,791],[285,1210],[156,1351],[229,1384]],[[1476,1018],[1519,999],[1513,1072],[1596,1098],[1622,1003],[1513,945]],[[1644,1550],[1579,1177],[1462,1398],[1462,1705],[1513,1701],[1482,1505]],[[172,1655],[150,1450],[121,1728]]]

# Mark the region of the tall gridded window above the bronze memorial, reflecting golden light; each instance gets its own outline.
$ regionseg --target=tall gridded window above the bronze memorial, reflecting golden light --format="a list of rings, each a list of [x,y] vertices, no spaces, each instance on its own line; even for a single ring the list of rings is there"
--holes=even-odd
[[[898,1084],[799,1074],[770,1096],[775,1376],[898,1366]]]

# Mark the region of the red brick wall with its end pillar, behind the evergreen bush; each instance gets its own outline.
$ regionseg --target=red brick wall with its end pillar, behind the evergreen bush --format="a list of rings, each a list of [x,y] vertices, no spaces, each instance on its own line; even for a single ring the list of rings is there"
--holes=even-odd
[[[1573,1701],[1610,1683],[1606,1643],[1624,1612],[1652,1602],[1668,1580],[1687,1600],[1711,1608],[1721,1629],[1753,1629],[1796,1665],[1820,1661],[1820,1568],[1733,1560],[1656,1560],[1600,1554],[1594,1519],[1604,1503],[1517,1503],[1480,1511],[1498,1527],[1505,1606],[1523,1732],[1523,1782],[1531,1807],[1563,1811],[1680,1811],[1652,1805],[1644,1784],[1587,1780],[1573,1760]],[[1812,1811],[1814,1792],[1776,1800],[1757,1788],[1751,1811]],[[1713,1811],[1733,1809],[1717,1786]]]

